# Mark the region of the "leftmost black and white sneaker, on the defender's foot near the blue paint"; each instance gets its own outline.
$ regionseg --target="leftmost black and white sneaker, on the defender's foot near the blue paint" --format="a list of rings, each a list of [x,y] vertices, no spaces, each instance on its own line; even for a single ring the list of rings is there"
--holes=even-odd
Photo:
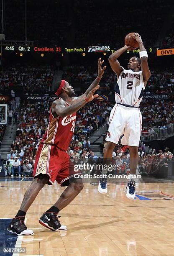
[[[33,236],[34,232],[28,229],[24,223],[24,217],[13,218],[7,230],[18,236]]]

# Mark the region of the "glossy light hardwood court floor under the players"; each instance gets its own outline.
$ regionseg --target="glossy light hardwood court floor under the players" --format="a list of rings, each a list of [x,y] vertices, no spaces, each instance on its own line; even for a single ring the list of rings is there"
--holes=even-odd
[[[30,183],[0,181],[0,218],[15,216]],[[41,190],[26,215],[26,225],[34,230],[34,236],[17,237],[15,244],[26,247],[27,253],[13,255],[174,255],[174,197],[168,196],[174,196],[173,183],[140,184],[138,191],[150,192],[137,192],[136,200],[126,198],[123,183],[108,184],[107,195],[100,194],[97,185],[84,183],[82,192],[60,212],[67,232],[49,231],[38,218],[63,190],[56,183]]]

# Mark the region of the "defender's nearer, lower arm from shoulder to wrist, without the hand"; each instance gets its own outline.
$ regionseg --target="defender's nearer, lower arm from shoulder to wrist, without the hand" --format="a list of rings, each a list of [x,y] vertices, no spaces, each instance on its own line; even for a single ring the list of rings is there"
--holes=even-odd
[[[77,110],[82,108],[86,103],[86,100],[84,98],[81,98],[81,100],[79,100],[78,102],[75,102],[70,106],[66,106],[66,103],[63,100],[58,99],[52,103],[52,113],[55,117],[56,115],[61,117],[72,115]]]

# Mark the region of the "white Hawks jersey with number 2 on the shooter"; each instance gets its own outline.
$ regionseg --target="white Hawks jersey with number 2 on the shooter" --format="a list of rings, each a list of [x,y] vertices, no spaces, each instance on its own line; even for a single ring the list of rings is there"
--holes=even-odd
[[[115,102],[138,108],[145,89],[142,71],[133,72],[131,69],[121,68],[123,71],[115,86]]]

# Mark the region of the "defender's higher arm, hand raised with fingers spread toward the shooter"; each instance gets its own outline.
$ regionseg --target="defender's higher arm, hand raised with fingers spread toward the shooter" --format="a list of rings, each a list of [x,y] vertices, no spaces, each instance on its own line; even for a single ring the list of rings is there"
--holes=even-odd
[[[83,99],[84,97],[87,97],[88,93],[93,90],[100,82],[102,75],[105,72],[106,66],[102,68],[102,64],[103,64],[104,60],[101,61],[101,58],[98,59],[98,76],[97,78],[94,80],[94,82],[92,82],[92,84],[90,85],[90,87],[86,90],[86,92],[84,92],[83,95],[79,96],[79,97],[73,97],[72,98],[72,102],[75,103],[81,99]]]

